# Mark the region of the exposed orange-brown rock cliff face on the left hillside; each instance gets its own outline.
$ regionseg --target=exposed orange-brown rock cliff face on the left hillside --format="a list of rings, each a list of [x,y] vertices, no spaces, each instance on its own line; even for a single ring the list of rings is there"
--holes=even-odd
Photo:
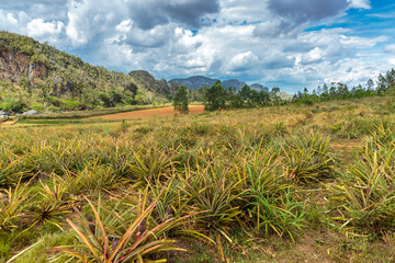
[[[31,57],[26,54],[0,49],[0,77],[12,82],[27,77],[31,84],[34,84],[35,79],[48,77],[48,69],[44,65],[31,62]]]

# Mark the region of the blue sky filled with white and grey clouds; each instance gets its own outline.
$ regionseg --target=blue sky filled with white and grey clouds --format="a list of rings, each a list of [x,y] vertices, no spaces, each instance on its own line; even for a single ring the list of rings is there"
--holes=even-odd
[[[294,93],[395,67],[392,0],[0,0],[0,30],[92,65]]]

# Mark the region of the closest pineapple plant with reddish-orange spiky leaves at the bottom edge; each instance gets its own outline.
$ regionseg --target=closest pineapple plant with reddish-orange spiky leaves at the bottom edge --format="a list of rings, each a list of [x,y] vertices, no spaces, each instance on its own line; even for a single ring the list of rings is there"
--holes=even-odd
[[[169,219],[165,222],[158,224],[149,229],[147,220],[153,213],[157,203],[153,202],[149,205],[144,204],[145,198],[139,195],[136,217],[129,222],[127,229],[122,231],[119,228],[119,217],[114,214],[104,217],[100,209],[87,198],[90,208],[94,215],[95,230],[91,231],[90,222],[82,216],[76,215],[75,220],[67,219],[71,229],[79,240],[78,245],[57,247],[49,251],[60,251],[67,253],[72,258],[79,259],[81,262],[143,262],[146,256],[153,253],[169,250],[182,250],[170,245],[174,240],[166,239],[163,232],[177,225],[180,220]],[[99,206],[100,208],[100,206]],[[120,231],[121,229],[121,231]],[[160,260],[157,262],[165,262]]]

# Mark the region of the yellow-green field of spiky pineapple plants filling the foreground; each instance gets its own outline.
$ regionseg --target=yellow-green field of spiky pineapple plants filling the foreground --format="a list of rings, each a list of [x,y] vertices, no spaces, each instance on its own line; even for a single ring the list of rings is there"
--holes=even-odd
[[[394,262],[394,117],[370,98],[0,126],[0,262]]]

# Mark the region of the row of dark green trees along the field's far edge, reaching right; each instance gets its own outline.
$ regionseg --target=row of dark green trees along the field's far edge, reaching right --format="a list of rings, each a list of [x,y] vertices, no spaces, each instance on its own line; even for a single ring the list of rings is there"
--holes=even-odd
[[[244,85],[241,90],[236,88],[224,89],[222,82],[217,80],[211,87],[189,90],[181,85],[174,95],[176,111],[188,113],[190,101],[200,101],[205,105],[206,111],[216,111],[225,108],[247,108],[257,106],[281,105],[286,103],[304,103],[313,105],[316,102],[332,100],[362,99],[375,95],[395,95],[395,69],[391,69],[385,75],[380,73],[376,83],[368,80],[365,87],[361,84],[349,88],[342,82],[331,82],[329,85],[324,83],[309,92],[306,88],[303,92],[298,91],[292,101],[283,101],[278,93],[280,88],[272,88],[270,92],[253,90],[249,85]]]

